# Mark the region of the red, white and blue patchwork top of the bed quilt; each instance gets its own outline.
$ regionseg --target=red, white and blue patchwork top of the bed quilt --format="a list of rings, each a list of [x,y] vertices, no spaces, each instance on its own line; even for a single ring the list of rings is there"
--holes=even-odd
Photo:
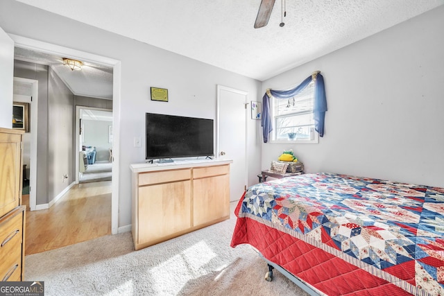
[[[306,174],[251,186],[237,211],[238,224],[254,220],[406,293],[444,295],[443,188]],[[233,247],[252,235],[239,229]]]

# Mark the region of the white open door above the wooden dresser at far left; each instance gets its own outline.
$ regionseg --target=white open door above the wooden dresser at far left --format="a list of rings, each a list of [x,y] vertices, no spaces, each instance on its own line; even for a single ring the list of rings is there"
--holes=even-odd
[[[14,42],[0,28],[0,128],[12,128]]]

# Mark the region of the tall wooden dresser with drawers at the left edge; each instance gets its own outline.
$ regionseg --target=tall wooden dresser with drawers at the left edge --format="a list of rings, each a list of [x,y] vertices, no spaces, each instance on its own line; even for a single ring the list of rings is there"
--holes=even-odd
[[[0,128],[0,281],[24,279],[23,131]]]

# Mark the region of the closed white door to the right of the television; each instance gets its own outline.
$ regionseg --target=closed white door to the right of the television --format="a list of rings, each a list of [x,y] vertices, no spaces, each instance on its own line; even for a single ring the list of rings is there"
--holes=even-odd
[[[230,201],[239,200],[247,184],[246,157],[247,93],[217,86],[218,125],[217,157],[231,159]]]

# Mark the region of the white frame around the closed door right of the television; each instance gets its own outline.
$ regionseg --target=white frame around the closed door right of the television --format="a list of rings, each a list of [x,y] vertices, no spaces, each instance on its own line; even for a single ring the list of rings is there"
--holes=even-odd
[[[216,134],[217,134],[217,139],[216,139],[216,158],[219,158],[221,155],[221,140],[219,138],[220,136],[220,129],[221,129],[221,124],[219,122],[219,120],[221,119],[221,91],[225,91],[225,92],[232,92],[234,94],[240,94],[242,96],[245,97],[244,99],[244,105],[245,105],[245,139],[244,139],[244,143],[245,143],[245,151],[244,151],[244,159],[245,159],[245,163],[244,163],[244,168],[245,168],[245,176],[244,176],[244,186],[247,186],[248,184],[248,148],[247,148],[247,139],[248,139],[248,92],[244,92],[242,90],[239,89],[234,89],[232,87],[225,87],[223,85],[217,85],[217,107],[216,107]],[[240,198],[240,196],[239,196]]]

